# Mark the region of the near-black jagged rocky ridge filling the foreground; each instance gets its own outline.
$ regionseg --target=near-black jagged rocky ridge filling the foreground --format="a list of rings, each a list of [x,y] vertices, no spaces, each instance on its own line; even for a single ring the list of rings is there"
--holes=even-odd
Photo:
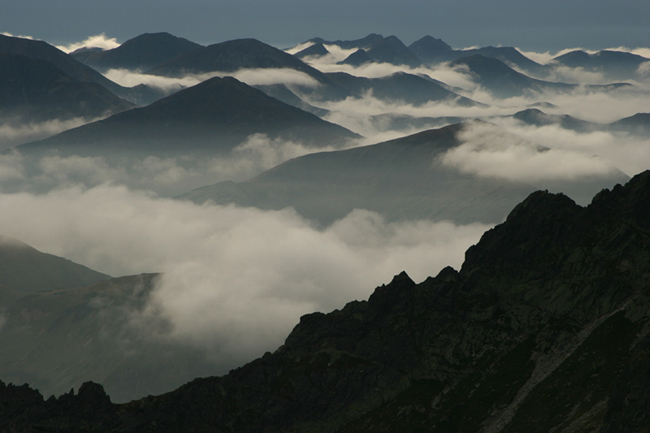
[[[273,354],[165,395],[106,405],[91,424],[158,432],[642,431],[649,295],[650,172],[586,208],[536,192],[467,251],[459,272],[446,268],[420,284],[402,273],[368,301],[302,317]],[[6,425],[19,425],[24,407],[34,428],[71,422],[74,412],[52,409],[69,396],[43,402],[23,390],[30,398],[16,408],[7,389],[2,410],[18,415],[0,417]]]

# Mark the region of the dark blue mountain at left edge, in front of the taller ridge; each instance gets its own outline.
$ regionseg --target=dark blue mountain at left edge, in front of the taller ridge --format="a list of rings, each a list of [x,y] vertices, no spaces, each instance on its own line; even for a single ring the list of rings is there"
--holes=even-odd
[[[87,120],[133,108],[96,83],[69,77],[44,60],[0,54],[0,122]]]

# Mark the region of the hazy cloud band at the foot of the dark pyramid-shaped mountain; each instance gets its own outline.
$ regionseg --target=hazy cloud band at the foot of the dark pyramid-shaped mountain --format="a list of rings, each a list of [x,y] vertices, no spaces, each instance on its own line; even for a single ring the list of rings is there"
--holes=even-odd
[[[318,150],[337,149],[341,148],[320,147]],[[225,180],[247,180],[313,151],[302,143],[253,134],[228,155],[213,158],[47,155],[33,160],[11,152],[0,154],[0,191],[43,193],[53,188],[92,188],[110,183],[161,196],[175,196]]]

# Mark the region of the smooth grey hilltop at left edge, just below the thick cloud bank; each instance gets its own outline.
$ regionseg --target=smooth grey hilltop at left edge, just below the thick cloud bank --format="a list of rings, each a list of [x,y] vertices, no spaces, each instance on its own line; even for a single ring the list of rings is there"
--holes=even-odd
[[[0,236],[0,284],[5,288],[33,293],[87,286],[109,278],[70,260],[42,253],[16,239]]]

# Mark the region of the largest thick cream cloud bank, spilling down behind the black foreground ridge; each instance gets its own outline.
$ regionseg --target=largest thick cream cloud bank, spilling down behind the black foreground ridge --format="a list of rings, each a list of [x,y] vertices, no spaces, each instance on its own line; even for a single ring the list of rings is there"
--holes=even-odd
[[[367,298],[406,270],[458,267],[488,228],[387,223],[354,211],[325,230],[293,210],[198,206],[123,186],[0,194],[3,234],[111,275],[164,272],[147,315],[224,368],[273,350],[300,315]],[[138,317],[134,318],[137,323]]]

